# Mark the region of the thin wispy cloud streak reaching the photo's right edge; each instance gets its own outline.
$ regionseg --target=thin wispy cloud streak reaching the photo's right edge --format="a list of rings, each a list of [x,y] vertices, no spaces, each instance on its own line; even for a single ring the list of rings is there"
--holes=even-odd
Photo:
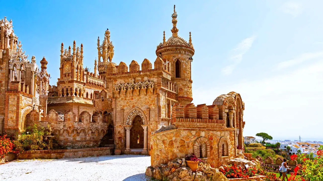
[[[317,60],[317,59],[322,59],[322,58],[323,58],[323,51],[303,53],[294,59],[278,63],[276,70],[288,68],[288,67],[291,67],[291,66],[309,61],[309,60]]]

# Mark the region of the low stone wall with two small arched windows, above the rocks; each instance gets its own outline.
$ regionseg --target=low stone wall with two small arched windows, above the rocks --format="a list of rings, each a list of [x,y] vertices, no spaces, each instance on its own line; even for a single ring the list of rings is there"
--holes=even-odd
[[[206,145],[205,157],[200,157],[201,143]],[[226,149],[224,156],[222,143],[225,143]],[[171,129],[152,135],[150,147],[152,167],[187,154],[195,154],[213,167],[219,167],[229,161],[230,157],[235,157],[234,132],[229,130]]]

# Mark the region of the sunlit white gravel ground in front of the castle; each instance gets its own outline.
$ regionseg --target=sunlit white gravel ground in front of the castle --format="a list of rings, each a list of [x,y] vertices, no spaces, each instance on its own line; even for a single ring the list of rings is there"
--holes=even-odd
[[[111,155],[53,160],[16,160],[0,165],[0,180],[147,180],[150,157]]]

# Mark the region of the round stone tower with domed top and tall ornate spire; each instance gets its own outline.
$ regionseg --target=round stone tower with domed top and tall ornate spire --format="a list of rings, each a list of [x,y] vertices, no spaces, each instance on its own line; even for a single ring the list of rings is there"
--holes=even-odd
[[[194,48],[191,39],[187,43],[183,38],[178,36],[177,13],[172,14],[172,37],[167,41],[165,32],[163,42],[157,46],[156,55],[163,60],[169,61],[172,67],[172,82],[178,87],[177,98],[183,106],[192,102],[192,79],[191,79],[191,63],[193,61]]]

